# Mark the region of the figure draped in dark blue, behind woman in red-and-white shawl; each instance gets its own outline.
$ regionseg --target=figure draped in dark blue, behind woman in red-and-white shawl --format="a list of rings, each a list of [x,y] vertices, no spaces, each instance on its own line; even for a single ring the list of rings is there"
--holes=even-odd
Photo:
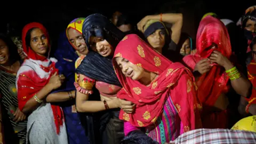
[[[59,69],[59,74],[63,74],[66,77],[66,82],[60,89],[54,91],[54,93],[60,91],[75,91],[75,61],[78,55],[73,46],[70,45],[66,31],[60,35],[58,47],[55,51],[55,58],[58,59],[55,67]],[[84,122],[80,121],[76,111],[75,99],[60,103],[60,105],[65,115],[69,144],[89,143],[89,139],[86,137],[85,130],[82,126]]]

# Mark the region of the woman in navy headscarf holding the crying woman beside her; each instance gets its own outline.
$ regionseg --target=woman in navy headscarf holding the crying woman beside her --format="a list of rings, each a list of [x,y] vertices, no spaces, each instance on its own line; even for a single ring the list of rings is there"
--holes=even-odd
[[[103,15],[92,14],[83,23],[83,37],[91,51],[76,69],[79,74],[79,81],[75,83],[77,111],[102,111],[100,131],[103,133],[103,143],[119,143],[124,135],[123,121],[118,119],[118,108],[122,103],[128,105],[124,109],[130,110],[133,107],[131,102],[115,98],[122,85],[115,75],[111,58],[124,34]],[[88,100],[94,84],[100,92],[101,101]]]

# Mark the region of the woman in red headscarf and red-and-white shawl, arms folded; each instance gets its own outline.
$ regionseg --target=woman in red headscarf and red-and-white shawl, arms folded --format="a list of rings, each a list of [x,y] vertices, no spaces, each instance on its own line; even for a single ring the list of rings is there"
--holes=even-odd
[[[68,143],[62,109],[49,102],[71,100],[75,92],[51,93],[62,85],[65,76],[58,75],[57,60],[49,59],[47,30],[41,23],[27,24],[22,30],[22,44],[28,59],[17,73],[16,85],[19,109],[28,114],[27,141]]]

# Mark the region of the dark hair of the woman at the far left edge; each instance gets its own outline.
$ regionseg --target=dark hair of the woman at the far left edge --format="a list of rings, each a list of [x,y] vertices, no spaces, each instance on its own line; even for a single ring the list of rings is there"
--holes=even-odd
[[[15,62],[17,60],[20,60],[20,55],[18,53],[18,48],[13,43],[11,37],[6,36],[5,34],[0,33],[0,39],[2,39],[6,43],[6,45],[8,46],[9,54],[10,54],[9,61],[13,60]]]

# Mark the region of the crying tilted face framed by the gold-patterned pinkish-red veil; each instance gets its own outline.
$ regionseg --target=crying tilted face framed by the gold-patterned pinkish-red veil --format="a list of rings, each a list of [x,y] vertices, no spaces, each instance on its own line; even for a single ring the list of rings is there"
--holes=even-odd
[[[126,77],[131,77],[133,80],[139,81],[145,73],[145,69],[134,65],[132,62],[125,58],[117,57],[116,59],[117,65],[121,68],[122,73]]]

